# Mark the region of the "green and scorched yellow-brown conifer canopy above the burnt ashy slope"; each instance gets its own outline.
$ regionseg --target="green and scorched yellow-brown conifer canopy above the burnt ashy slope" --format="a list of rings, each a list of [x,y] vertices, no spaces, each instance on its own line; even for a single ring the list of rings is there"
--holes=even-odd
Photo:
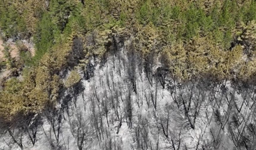
[[[145,62],[161,58],[179,82],[256,75],[255,0],[0,0],[0,31],[4,41],[35,44],[35,56],[20,48],[14,60],[6,48],[1,61],[13,72],[0,91],[7,121],[55,104],[60,89],[80,80],[72,71],[63,82],[62,71],[85,69],[92,56],[103,60],[114,35],[133,37]]]

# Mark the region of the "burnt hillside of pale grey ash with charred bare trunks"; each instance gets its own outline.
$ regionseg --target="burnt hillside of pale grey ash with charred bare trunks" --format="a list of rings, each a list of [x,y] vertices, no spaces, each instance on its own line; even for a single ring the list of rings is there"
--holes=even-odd
[[[60,105],[34,116],[25,132],[2,134],[1,149],[18,149],[18,143],[29,150],[255,147],[255,86],[238,89],[209,78],[179,84],[167,75],[163,88],[162,64],[152,66],[150,81],[131,44],[127,40],[104,64],[92,59],[89,79],[81,70],[68,73],[65,82],[72,74],[80,79],[63,91]]]

